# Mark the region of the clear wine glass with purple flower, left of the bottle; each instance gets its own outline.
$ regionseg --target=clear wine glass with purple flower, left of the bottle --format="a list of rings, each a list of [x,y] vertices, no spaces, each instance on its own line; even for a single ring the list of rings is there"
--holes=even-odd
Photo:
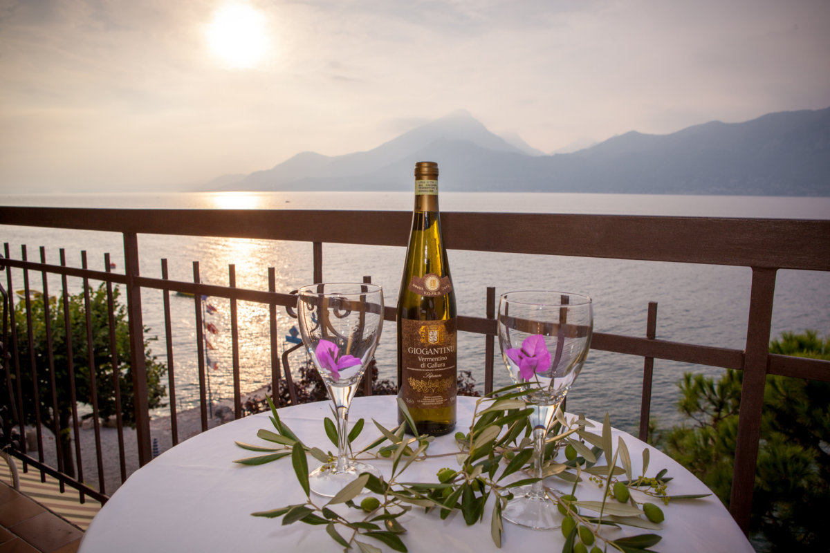
[[[323,377],[337,413],[337,459],[309,474],[311,491],[334,495],[360,473],[377,468],[346,456],[349,404],[372,361],[383,327],[383,289],[374,284],[311,284],[298,290],[297,320],[303,345]]]

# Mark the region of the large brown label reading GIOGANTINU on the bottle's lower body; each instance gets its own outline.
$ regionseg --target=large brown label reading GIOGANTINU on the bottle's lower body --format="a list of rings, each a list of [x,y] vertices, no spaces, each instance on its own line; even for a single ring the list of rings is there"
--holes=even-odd
[[[441,409],[457,392],[456,319],[401,320],[401,397],[408,407]]]

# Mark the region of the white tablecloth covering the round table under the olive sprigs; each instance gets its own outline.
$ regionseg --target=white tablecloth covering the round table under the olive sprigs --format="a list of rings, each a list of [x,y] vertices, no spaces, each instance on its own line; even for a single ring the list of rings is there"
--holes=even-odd
[[[360,440],[368,444],[379,435],[371,420],[386,428],[397,424],[393,396],[375,396],[354,400],[349,420],[364,418],[366,426]],[[459,397],[459,429],[469,424],[475,400]],[[322,420],[331,416],[330,403],[318,402],[280,410],[281,419],[303,439],[305,444],[331,450],[334,446],[325,437]],[[240,449],[234,441],[264,444],[256,437],[258,429],[273,429],[268,414],[249,416],[188,439],[155,458],[128,478],[110,501],[100,510],[81,542],[81,553],[113,553],[114,551],[343,551],[325,532],[325,526],[309,526],[295,522],[282,526],[280,519],[251,517],[251,512],[266,511],[305,502],[305,494],[297,483],[291,458],[261,466],[244,466],[234,459],[250,457],[256,452]],[[600,429],[597,429],[600,432]],[[615,430],[613,443],[622,435],[632,458],[635,474],[642,467],[642,449],[647,447],[631,435]],[[355,445],[360,445],[360,442]],[[437,439],[429,453],[457,451],[452,435]],[[647,476],[662,468],[674,480],[671,494],[706,493],[709,490],[681,465],[652,449]],[[310,467],[315,459],[309,456]],[[388,476],[391,463],[373,463]],[[604,464],[600,461],[600,464]],[[407,469],[408,482],[436,482],[436,473],[443,466],[456,466],[454,458],[440,458],[427,463],[413,463]],[[563,491],[569,484],[549,478],[549,486]],[[601,499],[593,483],[580,484],[581,500]],[[325,499],[312,495],[318,505]],[[491,500],[492,502],[492,500]],[[663,540],[656,551],[753,551],[729,512],[714,497],[693,501],[671,502],[663,507]],[[353,512],[354,513],[354,512]],[[491,506],[485,520],[466,526],[461,513],[442,521],[437,512],[424,515],[414,508],[402,519],[408,533],[403,541],[412,553],[437,551],[560,551],[564,538],[559,530],[533,531],[505,521],[502,549],[498,550],[490,534]],[[617,536],[646,532],[629,529],[608,532]],[[388,551],[378,541],[366,538],[374,546]],[[356,551],[356,549],[355,549]]]

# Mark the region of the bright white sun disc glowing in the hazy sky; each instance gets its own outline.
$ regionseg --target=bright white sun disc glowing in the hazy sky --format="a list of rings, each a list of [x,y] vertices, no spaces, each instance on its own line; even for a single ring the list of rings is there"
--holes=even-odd
[[[213,54],[232,67],[254,67],[268,47],[266,17],[242,2],[224,4],[213,13],[207,41]]]

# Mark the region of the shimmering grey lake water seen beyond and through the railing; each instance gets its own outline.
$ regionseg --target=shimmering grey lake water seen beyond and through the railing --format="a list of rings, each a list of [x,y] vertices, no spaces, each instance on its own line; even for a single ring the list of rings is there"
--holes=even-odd
[[[412,209],[408,193],[365,192],[218,192],[170,194],[112,194],[66,196],[0,195],[6,206],[250,208],[250,209]],[[442,193],[442,211],[500,211],[586,213],[617,215],[727,216],[795,219],[827,219],[830,198],[747,196],[646,196],[616,194],[507,194]],[[112,233],[66,231],[2,226],[0,241],[7,242],[12,257],[19,259],[26,244],[30,260],[37,259],[39,246],[46,247],[47,261],[57,264],[58,249],[66,249],[68,263],[81,265],[81,250],[89,255],[92,268],[103,267],[105,252],[112,254],[116,271],[123,270],[121,236]],[[212,237],[139,235],[141,273],[160,277],[160,261],[168,259],[171,279],[192,281],[192,262],[200,263],[207,284],[227,285],[228,264],[236,264],[237,286],[267,289],[267,268],[276,268],[277,289],[290,291],[312,278],[311,245],[269,240]],[[828,251],[816,252],[827,255]],[[403,269],[403,247],[332,245],[323,247],[325,280],[356,280],[365,274],[383,286],[387,303],[398,296]],[[359,259],[361,263],[354,264]],[[484,315],[487,286],[496,293],[510,289],[567,289],[588,293],[594,301],[594,328],[644,336],[647,303],[658,303],[657,337],[715,347],[742,349],[749,312],[749,269],[648,261],[597,260],[576,257],[506,255],[450,250],[450,266],[457,290],[459,313]],[[12,273],[14,288],[22,288],[19,272]],[[41,287],[39,274],[30,274],[32,288]],[[80,289],[80,279],[70,279]],[[5,284],[5,280],[3,281]],[[51,293],[59,289],[51,279]],[[149,336],[159,336],[154,353],[165,359],[162,295],[144,290],[144,323]],[[208,339],[215,347],[208,352],[217,369],[209,371],[214,400],[232,397],[231,325],[227,300],[210,298],[217,313],[208,320],[217,328]],[[177,400],[180,409],[196,405],[198,365],[195,346],[193,300],[173,296],[173,348]],[[270,379],[270,346],[267,308],[239,303],[240,361],[243,392],[255,390]],[[280,335],[295,324],[279,313]],[[811,271],[779,271],[772,333],[815,329],[830,335],[830,274]],[[394,379],[395,327],[387,323],[376,354],[381,376]],[[290,347],[283,342],[281,347]],[[483,386],[484,338],[460,335],[461,370],[470,370]],[[507,372],[496,352],[496,386],[508,383]],[[299,352],[292,360],[303,361]],[[673,361],[655,361],[652,414],[662,425],[681,420],[676,414],[676,381],[684,371],[717,375],[720,369]],[[606,411],[613,423],[635,429],[642,386],[642,358],[607,352],[592,352],[569,395],[569,410],[602,418]],[[159,415],[164,411],[159,411]]]

